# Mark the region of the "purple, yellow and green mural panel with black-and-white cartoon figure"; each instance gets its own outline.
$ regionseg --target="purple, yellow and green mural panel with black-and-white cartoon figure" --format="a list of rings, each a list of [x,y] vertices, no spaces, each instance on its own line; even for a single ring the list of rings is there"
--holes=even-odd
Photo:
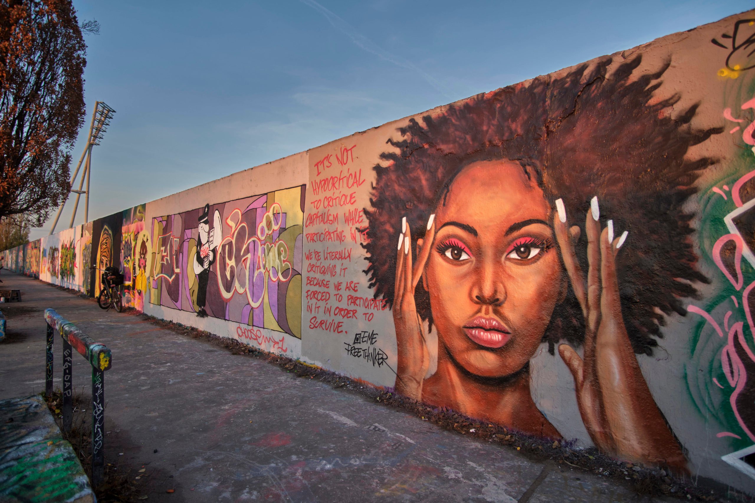
[[[300,338],[304,193],[153,218],[149,302]]]

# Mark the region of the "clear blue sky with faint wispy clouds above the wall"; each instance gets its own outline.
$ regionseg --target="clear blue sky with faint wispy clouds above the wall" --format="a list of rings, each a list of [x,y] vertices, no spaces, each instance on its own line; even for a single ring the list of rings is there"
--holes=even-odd
[[[90,219],[752,8],[744,0],[74,6],[101,26],[86,37],[88,116],[74,163],[94,102],[117,111],[94,147]]]

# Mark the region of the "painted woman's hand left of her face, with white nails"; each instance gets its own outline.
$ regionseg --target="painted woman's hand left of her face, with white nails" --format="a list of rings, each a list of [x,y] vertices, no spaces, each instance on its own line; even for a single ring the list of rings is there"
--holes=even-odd
[[[411,263],[411,229],[405,217],[401,221],[401,228],[396,257],[396,284],[393,290],[393,324],[396,326],[399,357],[396,364],[396,392],[414,400],[421,400],[422,382],[427,369],[430,368],[430,354],[427,352],[422,320],[417,314],[417,305],[414,302],[414,289],[422,278],[427,257],[433,248],[435,215],[430,215],[424,239],[418,240],[417,263],[414,266]]]

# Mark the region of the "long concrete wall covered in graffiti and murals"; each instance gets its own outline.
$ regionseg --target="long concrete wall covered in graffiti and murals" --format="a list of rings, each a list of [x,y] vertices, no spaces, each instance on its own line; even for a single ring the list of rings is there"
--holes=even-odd
[[[753,44],[750,11],[89,222],[6,267],[95,296],[88,266],[119,265],[148,314],[755,493]]]

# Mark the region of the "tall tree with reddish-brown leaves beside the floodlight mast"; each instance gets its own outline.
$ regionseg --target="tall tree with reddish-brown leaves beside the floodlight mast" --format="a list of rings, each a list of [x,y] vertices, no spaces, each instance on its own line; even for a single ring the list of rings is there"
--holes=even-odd
[[[0,218],[41,226],[69,193],[85,115],[82,27],[92,31],[71,0],[0,0]]]

